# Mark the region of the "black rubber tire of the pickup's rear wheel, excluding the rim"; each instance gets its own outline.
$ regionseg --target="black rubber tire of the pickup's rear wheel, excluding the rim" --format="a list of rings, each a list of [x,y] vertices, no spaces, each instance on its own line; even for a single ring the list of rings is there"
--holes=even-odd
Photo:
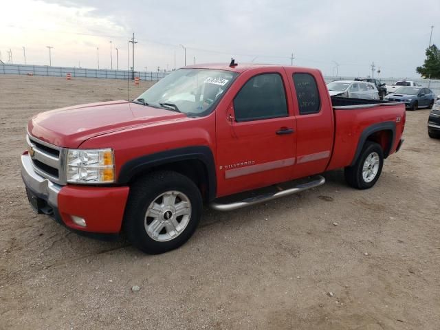
[[[364,179],[363,166],[367,157],[369,157],[372,153],[377,153],[379,156],[379,167],[377,168],[377,173],[373,180],[366,181]],[[376,142],[367,141],[360,152],[358,159],[356,160],[353,166],[348,166],[344,170],[345,180],[347,184],[353,188],[358,189],[368,189],[375,185],[376,181],[380,177],[380,173],[382,173],[382,166],[384,166],[384,153],[382,151],[382,147],[380,144]]]

